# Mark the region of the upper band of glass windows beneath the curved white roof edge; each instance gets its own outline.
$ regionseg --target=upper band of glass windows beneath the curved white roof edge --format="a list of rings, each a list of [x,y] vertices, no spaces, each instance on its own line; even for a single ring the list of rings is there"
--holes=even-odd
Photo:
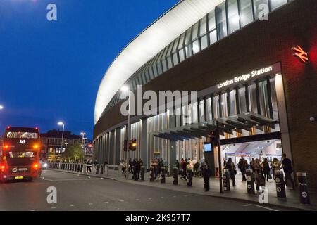
[[[273,11],[287,4],[288,1],[292,0],[224,1],[137,70],[129,79],[128,85],[135,90],[137,84],[147,84],[163,72],[206,49],[216,41],[220,41],[232,32],[258,20],[259,15],[263,14],[263,7]],[[113,97],[104,112],[118,102],[120,102],[120,91]]]

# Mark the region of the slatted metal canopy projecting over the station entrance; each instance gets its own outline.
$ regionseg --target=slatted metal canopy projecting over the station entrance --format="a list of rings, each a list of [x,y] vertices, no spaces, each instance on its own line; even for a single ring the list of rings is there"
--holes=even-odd
[[[242,134],[242,130],[251,131],[252,127],[263,130],[263,126],[275,129],[278,120],[272,120],[256,113],[241,113],[230,117],[214,119],[211,122],[199,122],[175,127],[152,134],[161,139],[170,141],[183,141],[209,136],[211,131],[216,130],[216,122],[219,123],[220,134],[233,134],[234,131]]]

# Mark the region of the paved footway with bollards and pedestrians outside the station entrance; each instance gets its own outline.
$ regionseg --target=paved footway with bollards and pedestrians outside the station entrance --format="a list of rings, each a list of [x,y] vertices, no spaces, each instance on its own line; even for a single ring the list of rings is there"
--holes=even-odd
[[[67,171],[69,172],[69,171]],[[131,174],[130,179],[127,180],[123,175],[118,175],[117,171],[108,171],[108,175],[100,175],[95,174],[93,171],[89,176],[95,176],[95,177],[104,177],[106,179],[113,179],[116,181],[121,181],[129,184],[138,184],[140,186],[151,186],[155,188],[162,188],[167,190],[173,190],[173,191],[182,191],[185,193],[191,193],[194,195],[205,195],[205,196],[212,196],[216,198],[225,198],[229,200],[242,200],[244,202],[250,203],[250,204],[259,204],[259,195],[249,195],[247,194],[247,184],[245,182],[242,182],[242,177],[237,175],[236,177],[236,184],[237,187],[232,188],[231,191],[221,194],[219,191],[219,180],[218,179],[210,179],[210,191],[205,192],[204,191],[204,180],[200,177],[194,177],[193,178],[193,186],[188,187],[187,182],[184,180],[179,179],[178,180],[178,186],[173,185],[173,178],[166,177],[166,184],[161,184],[159,179],[157,179],[154,182],[149,181],[149,173],[145,174],[145,181],[134,181],[131,180]],[[230,181],[231,183],[231,181]],[[232,183],[231,183],[232,184]],[[268,188],[268,204],[265,204],[267,206],[271,207],[283,207],[287,208],[289,210],[309,210],[309,211],[317,211],[317,193],[314,191],[309,191],[310,198],[311,198],[311,205],[304,205],[301,204],[299,201],[299,192],[293,191],[290,188],[286,188],[286,199],[281,199],[276,197],[276,188],[275,188],[275,181],[270,180],[266,183],[266,187]]]

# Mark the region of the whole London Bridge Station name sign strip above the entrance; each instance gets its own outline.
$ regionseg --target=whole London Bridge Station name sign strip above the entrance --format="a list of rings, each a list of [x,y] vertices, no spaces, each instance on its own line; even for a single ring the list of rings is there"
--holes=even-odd
[[[242,82],[247,82],[250,79],[256,79],[257,77],[263,77],[266,75],[272,75],[277,72],[280,72],[280,63],[275,63],[274,65],[270,65],[268,67],[259,68],[257,70],[252,70],[246,74],[234,77],[232,79],[228,79],[223,83],[217,84],[218,89],[222,89],[224,87],[230,86],[232,84],[240,84]]]

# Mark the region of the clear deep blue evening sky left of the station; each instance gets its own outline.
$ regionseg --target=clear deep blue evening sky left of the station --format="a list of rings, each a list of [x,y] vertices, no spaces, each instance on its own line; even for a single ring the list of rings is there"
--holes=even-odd
[[[0,134],[8,125],[92,138],[106,69],[178,0],[0,0]],[[46,6],[57,6],[57,21]]]

